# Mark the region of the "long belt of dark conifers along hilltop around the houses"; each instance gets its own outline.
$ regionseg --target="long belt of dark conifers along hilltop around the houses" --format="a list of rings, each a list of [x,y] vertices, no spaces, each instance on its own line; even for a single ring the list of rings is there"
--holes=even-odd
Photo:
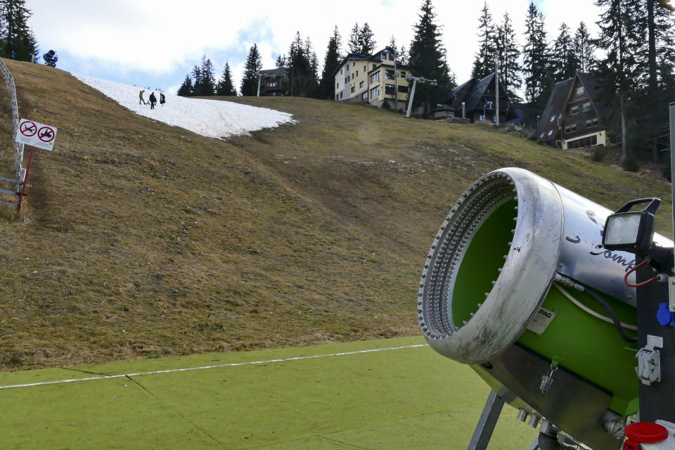
[[[595,0],[602,13],[596,20],[600,32],[591,35],[583,21],[562,23],[554,34],[548,33],[546,17],[532,1],[520,18],[506,13],[494,18],[483,4],[476,23],[475,58],[472,77],[482,79],[495,70],[499,60],[500,82],[509,98],[529,115],[536,117],[548,101],[556,83],[574,77],[577,70],[596,75],[598,97],[608,113],[604,117],[610,139],[621,143],[625,167],[634,165],[638,155],[656,159],[655,138],[667,124],[667,105],[675,99],[675,12],[667,1]],[[516,34],[514,21],[522,20],[525,33]],[[456,82],[452,60],[446,53],[442,24],[438,23],[431,0],[423,0],[417,23],[411,24],[414,37],[397,48],[394,36],[388,44],[379,44],[368,23],[354,23],[345,35],[336,26],[328,37],[321,67],[309,37],[298,31],[288,53],[278,55],[277,68],[288,68],[289,93],[293,96],[335,98],[333,72],[350,53],[368,56],[390,46],[401,63],[412,73],[436,79],[437,86],[418,85],[415,106],[446,101]],[[257,94],[257,72],[264,69],[257,45],[248,52],[239,94]],[[223,86],[228,86],[224,88]],[[220,81],[214,79],[210,60],[186,75],[179,95],[236,95],[229,65]]]

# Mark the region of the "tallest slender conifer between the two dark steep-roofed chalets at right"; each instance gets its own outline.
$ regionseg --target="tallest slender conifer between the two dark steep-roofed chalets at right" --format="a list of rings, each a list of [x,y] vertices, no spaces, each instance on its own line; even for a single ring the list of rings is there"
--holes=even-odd
[[[544,30],[544,14],[537,11],[534,1],[527,8],[525,46],[522,50],[522,72],[525,75],[525,99],[534,102],[548,78],[548,46]]]

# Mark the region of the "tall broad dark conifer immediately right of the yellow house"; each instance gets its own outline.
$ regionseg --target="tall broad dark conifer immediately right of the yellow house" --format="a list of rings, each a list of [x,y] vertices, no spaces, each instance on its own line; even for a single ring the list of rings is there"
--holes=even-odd
[[[410,71],[427,79],[435,79],[437,86],[418,83],[413,107],[424,105],[425,115],[430,113],[432,105],[446,101],[450,89],[454,86],[446,51],[442,44],[439,27],[434,23],[436,14],[431,0],[424,0],[420,8],[419,22],[414,25],[415,36],[410,44]]]

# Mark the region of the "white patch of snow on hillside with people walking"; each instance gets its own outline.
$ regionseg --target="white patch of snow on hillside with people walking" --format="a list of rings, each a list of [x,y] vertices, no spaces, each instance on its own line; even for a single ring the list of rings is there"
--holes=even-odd
[[[295,123],[293,115],[269,108],[240,105],[230,101],[187,98],[174,94],[165,94],[167,103],[160,105],[160,91],[154,91],[157,97],[155,109],[150,109],[151,90],[145,89],[143,99],[147,105],[139,104],[139,92],[142,88],[105,79],[72,74],[85,84],[101,91],[136,114],[150,119],[188,129],[202,136],[223,139],[227,136],[248,134],[263,128],[277,127],[279,124]]]

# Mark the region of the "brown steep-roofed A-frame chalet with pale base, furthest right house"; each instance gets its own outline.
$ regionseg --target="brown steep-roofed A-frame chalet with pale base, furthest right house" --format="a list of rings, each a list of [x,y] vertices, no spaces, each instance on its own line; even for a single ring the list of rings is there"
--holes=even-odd
[[[598,103],[593,73],[577,72],[555,84],[536,129],[536,139],[560,148],[605,146],[600,123],[607,111]]]

